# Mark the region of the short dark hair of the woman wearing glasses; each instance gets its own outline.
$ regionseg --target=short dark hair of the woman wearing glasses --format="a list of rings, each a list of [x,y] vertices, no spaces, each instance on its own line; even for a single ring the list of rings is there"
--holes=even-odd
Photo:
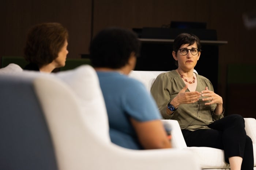
[[[189,44],[192,45],[196,42],[197,45],[197,50],[200,52],[201,51],[201,43],[200,43],[200,39],[193,34],[190,33],[180,33],[173,42],[173,51],[178,52],[178,50],[180,49],[180,47],[184,44]],[[175,65],[178,67],[178,61],[175,60]]]

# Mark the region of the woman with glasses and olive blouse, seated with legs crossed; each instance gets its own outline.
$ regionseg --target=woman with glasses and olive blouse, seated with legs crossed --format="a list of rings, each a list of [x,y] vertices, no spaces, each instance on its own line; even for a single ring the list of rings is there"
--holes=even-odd
[[[222,149],[231,170],[253,170],[252,140],[244,119],[238,114],[223,116],[222,97],[209,79],[193,72],[200,54],[197,36],[178,35],[172,52],[177,69],[160,74],[151,94],[162,117],[178,121],[188,147]]]

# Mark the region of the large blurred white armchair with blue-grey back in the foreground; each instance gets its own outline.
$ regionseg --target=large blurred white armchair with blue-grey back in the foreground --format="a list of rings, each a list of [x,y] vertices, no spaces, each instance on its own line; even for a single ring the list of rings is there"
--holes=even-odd
[[[0,96],[1,169],[200,170],[189,150],[114,145],[89,65],[51,74],[5,72]]]

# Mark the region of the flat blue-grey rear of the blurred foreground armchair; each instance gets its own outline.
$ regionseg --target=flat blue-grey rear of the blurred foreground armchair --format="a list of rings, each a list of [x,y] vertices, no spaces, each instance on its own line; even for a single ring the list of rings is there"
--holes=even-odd
[[[57,170],[57,163],[33,80],[0,75],[0,167]]]

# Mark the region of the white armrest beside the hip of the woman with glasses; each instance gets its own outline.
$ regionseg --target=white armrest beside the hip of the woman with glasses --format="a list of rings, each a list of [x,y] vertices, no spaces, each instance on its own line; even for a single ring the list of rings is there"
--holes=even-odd
[[[187,147],[186,142],[183,138],[180,125],[177,120],[161,120],[163,123],[168,123],[172,127],[172,147],[178,149],[184,149]]]

